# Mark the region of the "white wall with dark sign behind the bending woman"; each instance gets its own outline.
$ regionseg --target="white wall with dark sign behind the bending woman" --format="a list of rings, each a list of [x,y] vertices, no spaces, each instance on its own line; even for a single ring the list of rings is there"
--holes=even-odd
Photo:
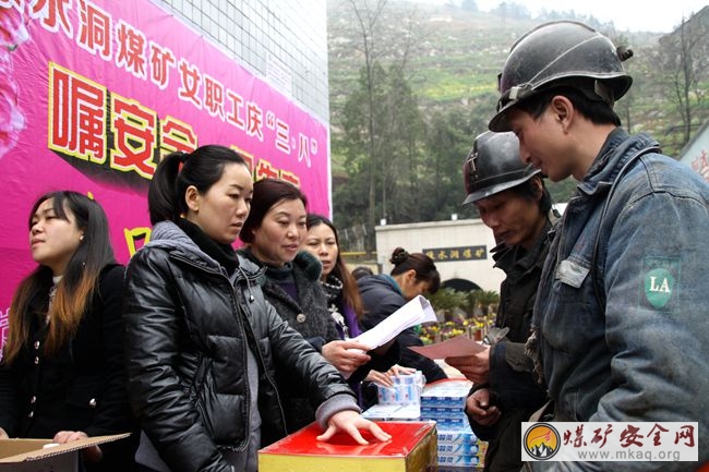
[[[423,252],[431,247],[484,246],[486,257],[481,261],[437,261],[441,281],[449,279],[469,280],[483,290],[500,292],[505,274],[494,268],[490,251],[495,246],[492,231],[480,219],[430,221],[410,225],[377,226],[376,254],[383,274],[392,271],[389,258],[396,247],[409,253]]]

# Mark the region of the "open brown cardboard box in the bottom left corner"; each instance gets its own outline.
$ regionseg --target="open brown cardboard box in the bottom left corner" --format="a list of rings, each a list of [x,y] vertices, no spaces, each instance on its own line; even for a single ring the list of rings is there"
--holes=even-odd
[[[0,472],[74,472],[80,449],[128,436],[130,433],[95,436],[60,445],[50,439],[0,439]]]

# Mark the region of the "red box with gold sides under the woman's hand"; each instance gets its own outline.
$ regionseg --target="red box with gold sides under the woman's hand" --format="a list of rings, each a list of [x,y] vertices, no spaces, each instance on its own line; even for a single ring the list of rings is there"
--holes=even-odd
[[[436,429],[433,422],[377,422],[392,440],[361,446],[339,433],[329,441],[315,423],[259,451],[259,472],[426,472],[436,470]]]

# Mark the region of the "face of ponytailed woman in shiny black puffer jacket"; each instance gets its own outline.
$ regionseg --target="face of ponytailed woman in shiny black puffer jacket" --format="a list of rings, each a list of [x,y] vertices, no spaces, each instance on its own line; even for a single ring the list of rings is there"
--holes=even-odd
[[[231,244],[239,237],[249,216],[253,181],[247,166],[228,164],[221,178],[204,194],[189,187],[187,219],[220,244]]]

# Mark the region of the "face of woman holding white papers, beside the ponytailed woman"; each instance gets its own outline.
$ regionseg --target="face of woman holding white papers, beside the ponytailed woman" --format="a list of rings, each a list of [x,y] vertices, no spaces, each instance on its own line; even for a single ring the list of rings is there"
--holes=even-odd
[[[292,262],[305,238],[305,205],[300,198],[281,199],[268,209],[261,226],[253,230],[251,251],[271,266]]]

